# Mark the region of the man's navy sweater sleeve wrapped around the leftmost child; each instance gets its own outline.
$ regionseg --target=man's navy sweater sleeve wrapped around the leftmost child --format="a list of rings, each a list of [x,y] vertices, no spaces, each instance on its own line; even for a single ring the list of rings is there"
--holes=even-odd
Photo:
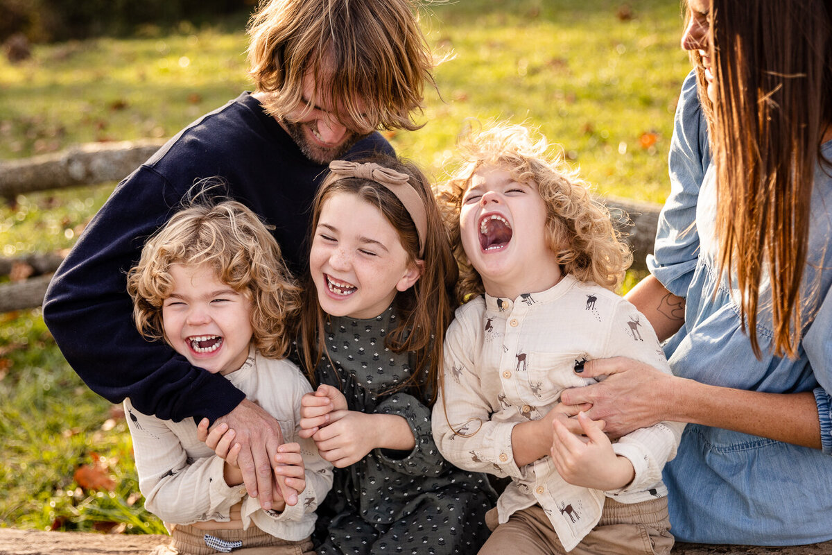
[[[166,344],[143,339],[126,292],[126,271],[180,200],[146,166],[122,181],[52,278],[43,318],[67,362],[102,397],[130,397],[136,409],[163,420],[215,419],[244,395]]]

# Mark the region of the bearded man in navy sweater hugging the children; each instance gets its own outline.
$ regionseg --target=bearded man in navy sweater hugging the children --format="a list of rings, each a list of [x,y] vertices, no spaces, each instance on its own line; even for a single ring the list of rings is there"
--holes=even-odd
[[[410,0],[271,0],[248,27],[255,92],[180,131],[116,187],[52,279],[43,304],[72,368],[106,399],[161,419],[228,424],[244,446],[248,492],[270,508],[277,422],[218,374],[192,366],[131,325],[125,274],[146,238],[197,181],[254,210],[300,267],[308,208],[329,161],[392,151],[377,129],[415,129],[433,57]]]

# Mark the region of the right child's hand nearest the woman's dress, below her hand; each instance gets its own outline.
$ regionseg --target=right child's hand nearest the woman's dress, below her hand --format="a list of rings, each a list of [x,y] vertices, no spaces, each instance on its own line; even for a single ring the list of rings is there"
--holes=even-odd
[[[635,477],[632,464],[612,450],[601,426],[587,414],[577,415],[583,434],[572,434],[564,424],[566,417],[552,421],[552,463],[568,483],[603,491],[623,488]]]

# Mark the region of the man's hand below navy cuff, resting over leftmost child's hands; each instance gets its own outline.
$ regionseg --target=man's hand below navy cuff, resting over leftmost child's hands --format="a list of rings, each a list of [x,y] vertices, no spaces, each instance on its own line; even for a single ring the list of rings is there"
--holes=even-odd
[[[277,482],[286,503],[297,503],[298,493],[277,472],[276,462],[274,473],[272,471],[272,461],[277,460],[278,447],[283,444],[283,433],[277,420],[259,405],[243,399],[229,414],[217,419],[214,427],[221,424],[227,424],[228,430],[234,431],[235,444],[240,444],[237,466],[243,474],[246,491],[253,498],[260,497],[260,507],[265,510],[272,508],[273,480]]]

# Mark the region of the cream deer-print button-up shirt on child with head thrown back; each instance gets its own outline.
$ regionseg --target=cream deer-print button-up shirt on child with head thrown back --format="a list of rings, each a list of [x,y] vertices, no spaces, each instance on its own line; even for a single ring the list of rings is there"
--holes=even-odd
[[[622,297],[571,275],[516,300],[485,295],[457,310],[444,347],[433,435],[458,467],[512,478],[498,500],[500,523],[537,503],[571,550],[598,523],[607,496],[638,503],[666,495],[661,469],[675,456],[684,424],[659,423],[613,444],[636,472],[620,490],[567,483],[549,456],[522,468],[514,463],[515,424],[541,419],[563,389],[595,381],[575,373],[577,362],[627,356],[670,373],[650,324]]]

